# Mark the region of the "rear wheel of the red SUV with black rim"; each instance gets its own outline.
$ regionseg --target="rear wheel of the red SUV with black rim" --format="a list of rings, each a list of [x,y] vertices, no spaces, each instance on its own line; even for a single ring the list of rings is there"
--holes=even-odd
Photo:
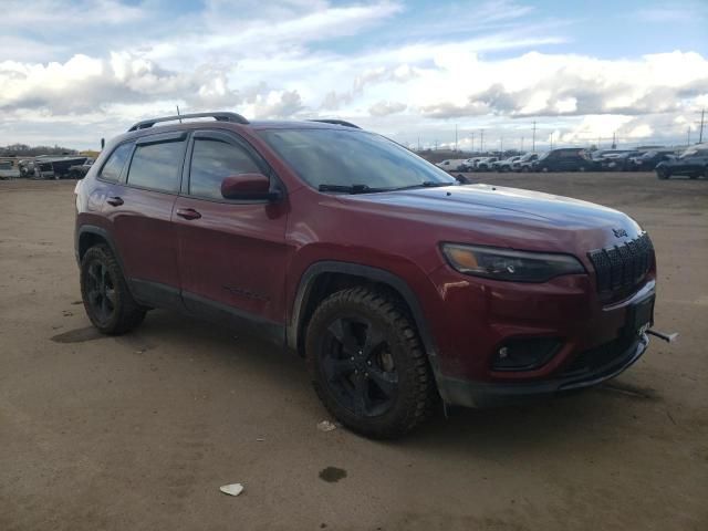
[[[104,334],[124,334],[145,319],[107,246],[92,247],[81,260],[81,296],[88,319]]]

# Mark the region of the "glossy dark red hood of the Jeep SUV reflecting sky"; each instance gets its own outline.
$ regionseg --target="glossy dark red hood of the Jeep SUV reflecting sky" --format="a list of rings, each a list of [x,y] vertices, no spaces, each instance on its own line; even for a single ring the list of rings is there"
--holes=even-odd
[[[412,230],[437,228],[439,241],[574,252],[622,243],[642,228],[617,210],[538,191],[490,185],[341,196],[369,216],[405,218]],[[423,227],[420,227],[423,229]]]

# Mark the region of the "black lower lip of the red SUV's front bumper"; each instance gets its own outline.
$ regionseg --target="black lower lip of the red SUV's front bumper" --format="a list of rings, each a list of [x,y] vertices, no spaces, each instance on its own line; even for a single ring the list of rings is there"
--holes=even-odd
[[[466,407],[494,407],[528,403],[591,387],[617,376],[646,352],[649,340],[646,334],[637,337],[629,347],[607,364],[584,374],[570,373],[545,381],[525,383],[471,382],[440,377],[438,386],[446,403]]]

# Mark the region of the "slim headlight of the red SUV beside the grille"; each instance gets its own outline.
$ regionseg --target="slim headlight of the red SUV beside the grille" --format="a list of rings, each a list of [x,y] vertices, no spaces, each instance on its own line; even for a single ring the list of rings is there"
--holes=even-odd
[[[584,273],[569,254],[512,251],[493,247],[442,243],[442,253],[460,273],[514,282],[545,282],[562,274]]]

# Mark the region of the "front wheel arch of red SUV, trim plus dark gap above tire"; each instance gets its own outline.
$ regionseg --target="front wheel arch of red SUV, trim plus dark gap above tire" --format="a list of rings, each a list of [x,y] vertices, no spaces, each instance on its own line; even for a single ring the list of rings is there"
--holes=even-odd
[[[437,379],[437,347],[418,298],[404,279],[371,266],[340,261],[322,261],[310,266],[300,278],[292,305],[287,330],[288,346],[303,354],[304,331],[320,301],[341,289],[367,284],[392,294],[405,305],[420,334]]]

